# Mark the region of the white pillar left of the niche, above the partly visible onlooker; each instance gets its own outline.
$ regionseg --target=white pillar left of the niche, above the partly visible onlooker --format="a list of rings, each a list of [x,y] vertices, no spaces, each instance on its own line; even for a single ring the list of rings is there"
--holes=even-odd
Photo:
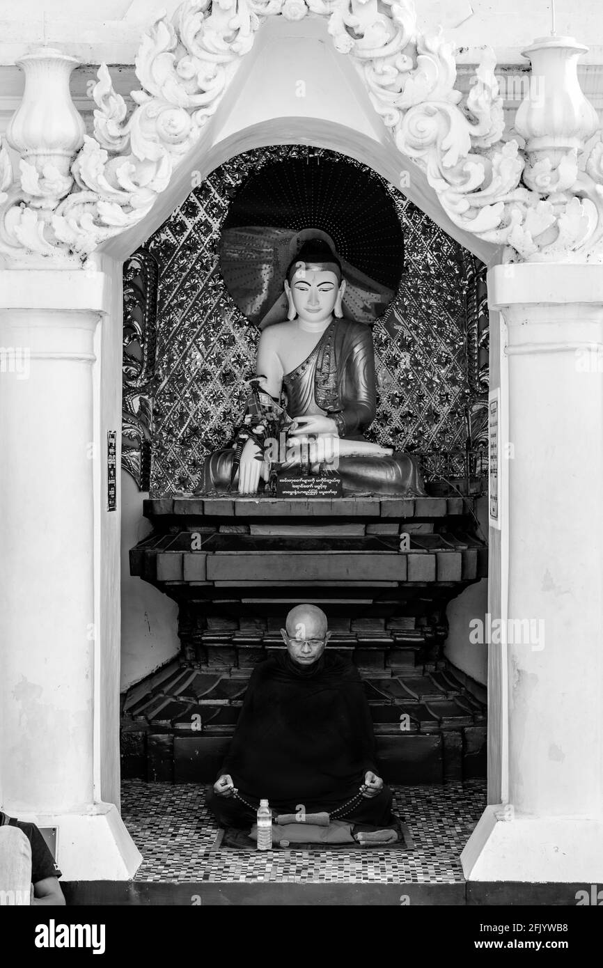
[[[93,366],[107,288],[102,272],[0,272],[0,798],[57,826],[69,880],[140,862],[93,790]]]

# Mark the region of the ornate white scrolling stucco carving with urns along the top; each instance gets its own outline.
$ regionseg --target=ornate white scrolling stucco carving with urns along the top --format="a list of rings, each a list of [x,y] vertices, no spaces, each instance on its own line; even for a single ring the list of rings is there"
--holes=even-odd
[[[508,138],[493,52],[484,51],[464,99],[451,46],[441,32],[417,31],[411,0],[187,0],[142,40],[130,117],[101,67],[94,136],[72,145],[67,171],[36,155],[35,125],[27,137],[9,130],[25,157],[11,186],[0,153],[0,190],[8,193],[0,251],[13,260],[82,259],[142,219],[216,110],[257,28],[275,15],[328,18],[336,49],[352,58],[395,139],[401,167],[409,158],[424,168],[457,226],[507,246],[511,260],[603,261],[603,142],[576,76],[586,48],[563,38],[528,48],[542,83]],[[23,61],[32,92],[40,56]]]

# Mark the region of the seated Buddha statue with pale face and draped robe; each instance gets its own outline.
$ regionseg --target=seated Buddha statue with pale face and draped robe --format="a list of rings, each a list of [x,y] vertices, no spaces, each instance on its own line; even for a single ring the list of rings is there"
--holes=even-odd
[[[287,319],[259,339],[242,433],[206,459],[196,494],[256,494],[271,473],[305,461],[312,473],[336,468],[345,495],[425,495],[410,455],[364,437],[377,412],[375,351],[370,327],[344,318],[345,290],[333,249],[324,239],[306,239],[286,270]],[[275,461],[264,417],[271,408],[274,417],[284,397],[286,454],[281,448]]]

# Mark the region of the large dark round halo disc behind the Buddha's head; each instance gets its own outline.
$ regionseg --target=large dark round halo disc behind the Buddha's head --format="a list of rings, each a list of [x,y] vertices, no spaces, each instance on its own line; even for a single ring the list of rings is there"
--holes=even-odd
[[[286,159],[249,177],[226,215],[220,266],[235,305],[262,329],[286,318],[286,266],[326,238],[342,260],[348,318],[373,323],[400,286],[404,236],[380,178],[342,159]]]

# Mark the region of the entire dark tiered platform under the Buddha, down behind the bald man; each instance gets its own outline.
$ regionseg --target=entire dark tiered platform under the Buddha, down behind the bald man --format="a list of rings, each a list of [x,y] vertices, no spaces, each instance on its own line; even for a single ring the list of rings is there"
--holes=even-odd
[[[249,676],[296,602],[365,681],[389,782],[485,774],[485,690],[442,657],[451,598],[486,574],[472,498],[158,499],[133,574],[179,603],[181,655],[125,697],[125,777],[213,780]]]

